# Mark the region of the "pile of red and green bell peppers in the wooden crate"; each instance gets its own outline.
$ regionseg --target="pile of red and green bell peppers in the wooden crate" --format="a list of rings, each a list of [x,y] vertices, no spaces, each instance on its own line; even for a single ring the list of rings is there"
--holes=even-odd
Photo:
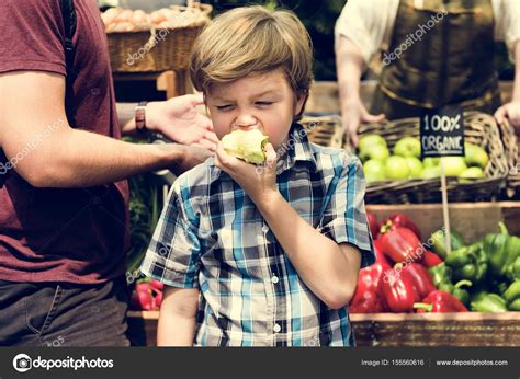
[[[422,243],[405,215],[368,221],[376,261],[359,273],[351,313],[520,311],[520,238],[504,222],[472,244],[451,230],[448,254],[443,230]]]

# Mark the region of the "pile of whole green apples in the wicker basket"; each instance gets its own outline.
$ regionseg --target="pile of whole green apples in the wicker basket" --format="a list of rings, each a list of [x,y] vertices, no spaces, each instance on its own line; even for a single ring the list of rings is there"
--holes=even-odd
[[[486,150],[468,142],[464,143],[464,157],[425,158],[421,161],[421,145],[418,138],[399,139],[391,154],[386,140],[371,134],[360,139],[359,157],[363,162],[364,175],[369,183],[439,177],[441,160],[446,176],[461,177],[461,182],[485,177],[484,169],[489,162]]]

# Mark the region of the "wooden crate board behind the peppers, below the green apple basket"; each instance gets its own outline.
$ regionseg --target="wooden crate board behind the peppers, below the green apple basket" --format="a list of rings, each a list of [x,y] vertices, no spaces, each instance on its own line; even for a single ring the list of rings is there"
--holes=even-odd
[[[443,227],[442,204],[368,205],[377,220],[403,213],[419,227],[422,239]],[[505,221],[511,234],[520,236],[520,202],[453,203],[449,205],[450,225],[466,243],[486,233],[498,232],[497,223]]]

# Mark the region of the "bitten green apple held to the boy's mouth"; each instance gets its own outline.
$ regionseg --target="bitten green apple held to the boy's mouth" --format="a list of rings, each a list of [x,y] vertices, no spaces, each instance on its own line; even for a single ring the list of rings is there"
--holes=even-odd
[[[260,130],[235,130],[225,135],[222,139],[222,146],[226,152],[233,157],[239,158],[248,163],[260,164],[265,161],[263,147],[269,137]]]

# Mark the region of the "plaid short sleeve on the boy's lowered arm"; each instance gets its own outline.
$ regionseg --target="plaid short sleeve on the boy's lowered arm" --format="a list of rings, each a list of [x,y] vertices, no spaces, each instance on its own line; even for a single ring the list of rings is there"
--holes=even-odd
[[[189,219],[177,181],[168,196],[140,271],[168,286],[197,288],[201,243],[197,229]]]

